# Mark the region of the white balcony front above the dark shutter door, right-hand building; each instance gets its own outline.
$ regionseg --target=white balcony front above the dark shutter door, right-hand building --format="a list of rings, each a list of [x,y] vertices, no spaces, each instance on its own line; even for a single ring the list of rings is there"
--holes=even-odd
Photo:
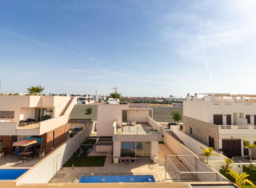
[[[219,125],[220,136],[255,136],[254,125]]]

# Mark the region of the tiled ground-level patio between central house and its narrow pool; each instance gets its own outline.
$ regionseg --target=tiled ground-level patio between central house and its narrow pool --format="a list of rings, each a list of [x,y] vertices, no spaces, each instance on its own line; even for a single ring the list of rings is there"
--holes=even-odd
[[[90,156],[95,156],[95,150]],[[107,155],[107,153],[99,153],[97,155]],[[74,182],[77,183],[84,175],[154,175],[156,182],[173,182],[169,178],[177,178],[177,174],[173,167],[167,167],[167,179],[165,178],[165,156],[174,155],[173,152],[165,145],[159,144],[159,163],[153,163],[151,160],[137,160],[136,164],[114,164],[111,158],[107,157],[104,167],[64,167],[58,172],[49,183]],[[180,165],[180,164],[176,164]],[[93,174],[92,174],[93,173]],[[180,178],[194,178],[194,175],[183,174]]]

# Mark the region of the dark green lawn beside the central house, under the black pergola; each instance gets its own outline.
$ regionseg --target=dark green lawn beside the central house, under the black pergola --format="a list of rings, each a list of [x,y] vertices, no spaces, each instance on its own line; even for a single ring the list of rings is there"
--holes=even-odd
[[[92,142],[93,141],[93,142]],[[91,144],[96,143],[96,139],[88,139],[84,144]],[[84,152],[81,154],[81,163],[79,163],[79,157],[76,157],[72,162],[66,162],[64,164],[64,167],[72,167],[74,164],[74,167],[103,167],[105,163],[106,156],[87,156],[85,153],[90,147],[88,146],[84,149]],[[79,154],[79,148],[74,153],[76,156]]]

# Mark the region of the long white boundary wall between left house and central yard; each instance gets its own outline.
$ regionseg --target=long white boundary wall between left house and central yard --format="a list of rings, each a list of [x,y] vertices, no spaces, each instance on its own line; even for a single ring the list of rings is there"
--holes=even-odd
[[[75,135],[72,139],[69,139],[54,152],[17,178],[16,185],[48,183],[79,148],[80,143],[82,143],[86,137],[92,135],[94,130],[95,122],[92,122],[86,129]]]

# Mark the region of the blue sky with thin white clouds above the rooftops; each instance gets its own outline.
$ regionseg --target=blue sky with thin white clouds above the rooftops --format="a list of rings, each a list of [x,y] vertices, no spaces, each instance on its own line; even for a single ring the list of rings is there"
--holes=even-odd
[[[0,91],[256,94],[255,10],[255,0],[0,0]]]

